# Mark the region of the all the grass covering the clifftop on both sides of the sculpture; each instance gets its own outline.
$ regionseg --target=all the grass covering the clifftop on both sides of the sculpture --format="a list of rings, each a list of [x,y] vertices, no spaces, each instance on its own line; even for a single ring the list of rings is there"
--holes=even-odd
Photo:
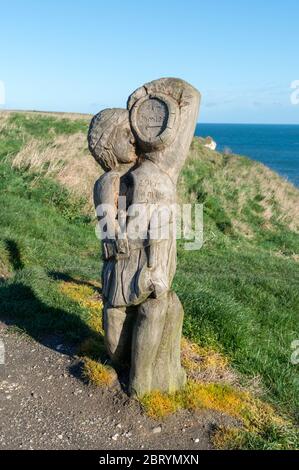
[[[87,126],[81,117],[0,114],[0,318],[38,340],[63,334],[78,344],[91,376],[106,358],[90,203],[98,170],[88,157]],[[204,246],[187,252],[178,244],[174,282],[184,334],[200,357],[194,364],[190,350],[183,354],[191,381],[203,387],[198,403],[212,406],[203,390],[230,393],[226,385],[247,377],[296,422],[298,365],[290,358],[299,337],[298,189],[263,165],[194,140],[179,193],[204,204]],[[172,399],[163,403],[176,409]],[[294,447],[295,427],[266,424],[258,433],[222,430],[215,439],[228,448]]]

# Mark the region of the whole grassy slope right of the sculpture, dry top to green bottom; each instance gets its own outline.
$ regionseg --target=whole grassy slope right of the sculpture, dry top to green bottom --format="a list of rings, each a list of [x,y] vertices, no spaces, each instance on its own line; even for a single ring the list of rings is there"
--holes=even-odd
[[[197,142],[181,191],[205,213],[203,248],[179,250],[185,332],[260,375],[268,396],[296,414],[298,366],[290,356],[299,335],[299,191],[258,163]]]

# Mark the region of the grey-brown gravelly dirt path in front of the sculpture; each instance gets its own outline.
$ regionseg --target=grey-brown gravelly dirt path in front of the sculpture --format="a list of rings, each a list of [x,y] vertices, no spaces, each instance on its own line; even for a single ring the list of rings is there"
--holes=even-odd
[[[210,449],[227,417],[180,412],[161,423],[119,389],[82,382],[61,338],[40,344],[0,323],[0,449]],[[48,345],[47,345],[48,344]]]

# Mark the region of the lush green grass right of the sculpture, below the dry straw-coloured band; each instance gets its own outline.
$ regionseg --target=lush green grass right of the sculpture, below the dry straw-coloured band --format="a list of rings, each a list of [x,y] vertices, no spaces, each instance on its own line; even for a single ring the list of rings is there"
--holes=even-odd
[[[193,258],[180,252],[175,289],[185,334],[220,345],[239,371],[261,375],[269,399],[296,416],[298,370],[290,354],[298,337],[298,263],[259,248],[206,247]]]

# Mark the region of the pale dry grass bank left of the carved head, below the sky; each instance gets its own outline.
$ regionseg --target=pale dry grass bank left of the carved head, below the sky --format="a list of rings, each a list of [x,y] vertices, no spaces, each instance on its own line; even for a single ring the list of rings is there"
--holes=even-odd
[[[92,188],[101,174],[87,148],[89,118],[37,113],[8,113],[0,117],[0,158],[13,168],[55,179],[92,212]]]

